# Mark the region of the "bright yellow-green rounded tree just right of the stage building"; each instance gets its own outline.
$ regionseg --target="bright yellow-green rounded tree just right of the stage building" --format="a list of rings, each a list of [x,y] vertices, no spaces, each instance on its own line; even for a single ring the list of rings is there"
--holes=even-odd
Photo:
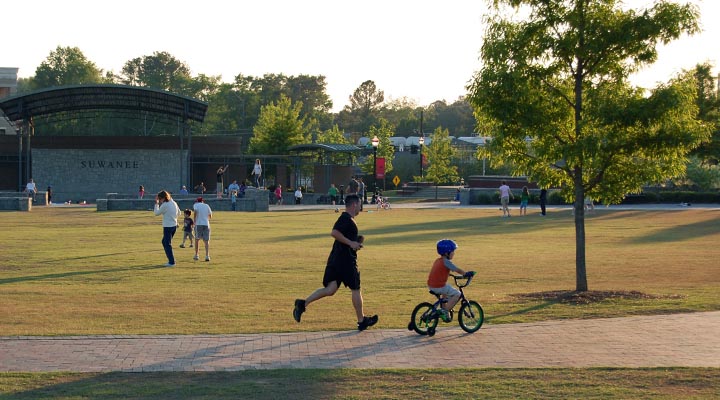
[[[276,103],[263,106],[250,139],[250,152],[254,154],[287,154],[289,147],[307,143],[308,135],[300,117],[302,103],[295,104],[286,96]]]

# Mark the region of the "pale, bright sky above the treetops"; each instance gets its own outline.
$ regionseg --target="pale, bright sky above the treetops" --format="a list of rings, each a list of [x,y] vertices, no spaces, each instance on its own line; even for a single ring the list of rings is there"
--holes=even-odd
[[[697,4],[703,32],[659,48],[633,83],[654,87],[711,62],[718,73],[719,0]],[[626,0],[639,8],[651,0]],[[333,111],[372,80],[386,100],[427,106],[466,94],[479,61],[484,0],[23,0],[2,5],[0,67],[30,77],[58,46],[104,71],[166,51],[193,76],[323,75]]]

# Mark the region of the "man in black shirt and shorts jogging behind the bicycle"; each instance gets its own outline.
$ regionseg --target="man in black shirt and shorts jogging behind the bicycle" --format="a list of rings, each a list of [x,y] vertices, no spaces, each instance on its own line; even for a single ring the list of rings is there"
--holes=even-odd
[[[357,265],[357,251],[362,247],[363,237],[358,235],[355,217],[360,213],[360,198],[349,195],[345,198],[345,211],[335,222],[330,235],[335,239],[330,256],[325,266],[323,287],[315,290],[306,299],[295,300],[293,318],[300,322],[307,306],[323,297],[332,296],[337,292],[340,284],[350,288],[353,307],[357,316],[358,330],[375,325],[378,316],[365,316],[363,298],[360,292],[360,271]]]

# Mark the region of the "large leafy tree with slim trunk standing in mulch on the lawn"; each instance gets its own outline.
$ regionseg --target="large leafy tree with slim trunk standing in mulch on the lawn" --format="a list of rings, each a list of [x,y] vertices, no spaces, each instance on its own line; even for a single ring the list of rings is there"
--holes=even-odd
[[[662,0],[642,12],[615,0],[490,3],[471,103],[492,122],[489,152],[574,202],[576,290],[587,291],[585,195],[617,203],[679,175],[707,138],[692,76],[649,97],[627,83],[655,61],[658,43],[698,31],[697,9]],[[507,6],[527,16],[511,19]]]

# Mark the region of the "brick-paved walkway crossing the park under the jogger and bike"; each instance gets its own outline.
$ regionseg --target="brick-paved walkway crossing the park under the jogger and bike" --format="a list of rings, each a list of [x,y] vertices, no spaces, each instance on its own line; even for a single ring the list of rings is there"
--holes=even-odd
[[[0,337],[0,371],[720,367],[720,312],[404,329],[188,336]]]

